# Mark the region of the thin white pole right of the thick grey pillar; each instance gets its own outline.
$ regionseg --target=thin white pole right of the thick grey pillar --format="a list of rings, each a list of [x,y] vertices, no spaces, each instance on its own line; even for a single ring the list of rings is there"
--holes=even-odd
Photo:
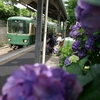
[[[48,19],[48,4],[49,0],[46,0],[46,7],[45,7],[45,27],[44,27],[44,41],[43,41],[43,55],[42,55],[42,63],[45,63],[45,52],[46,52],[46,36],[47,36],[47,19]]]

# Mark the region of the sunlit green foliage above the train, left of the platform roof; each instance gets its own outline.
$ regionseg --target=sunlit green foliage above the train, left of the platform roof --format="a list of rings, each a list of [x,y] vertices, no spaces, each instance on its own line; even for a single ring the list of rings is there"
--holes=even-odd
[[[10,0],[12,2],[12,0]],[[0,19],[1,20],[7,20],[8,17],[11,16],[30,16],[33,15],[36,17],[36,13],[32,13],[31,11],[27,9],[19,9],[14,6],[16,0],[13,0],[13,3],[9,0],[5,0],[6,3],[3,3],[3,1],[0,1]]]

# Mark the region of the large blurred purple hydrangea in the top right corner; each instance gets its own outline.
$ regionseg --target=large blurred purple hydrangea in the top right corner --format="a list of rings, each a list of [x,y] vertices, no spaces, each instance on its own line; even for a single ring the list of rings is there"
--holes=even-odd
[[[78,0],[75,10],[76,19],[89,35],[100,29],[100,7]]]

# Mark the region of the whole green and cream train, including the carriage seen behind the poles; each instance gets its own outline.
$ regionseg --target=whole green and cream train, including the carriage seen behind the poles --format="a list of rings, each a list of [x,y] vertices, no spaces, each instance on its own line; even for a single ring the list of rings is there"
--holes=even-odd
[[[7,19],[7,43],[11,48],[17,49],[35,43],[36,20],[29,17],[13,16]],[[42,24],[42,37],[44,33],[44,22]],[[47,23],[47,33],[55,34],[57,25],[52,22]]]

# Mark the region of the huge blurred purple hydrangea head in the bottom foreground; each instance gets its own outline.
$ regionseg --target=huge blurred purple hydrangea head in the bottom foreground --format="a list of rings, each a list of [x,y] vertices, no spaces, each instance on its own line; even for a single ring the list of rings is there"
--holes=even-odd
[[[0,100],[76,100],[81,91],[75,75],[36,63],[21,66],[8,77]]]

